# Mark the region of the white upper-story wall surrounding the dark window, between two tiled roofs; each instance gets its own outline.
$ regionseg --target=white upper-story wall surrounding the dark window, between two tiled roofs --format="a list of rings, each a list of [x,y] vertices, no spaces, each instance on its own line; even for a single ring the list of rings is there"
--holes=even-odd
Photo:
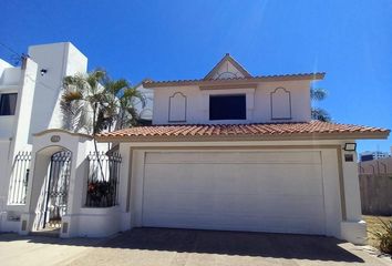
[[[274,91],[278,88],[283,88],[289,94],[291,117],[279,120],[275,120],[272,117],[271,93],[274,93]],[[186,124],[238,124],[310,121],[309,81],[280,81],[259,82],[256,89],[241,88],[226,90],[200,90],[197,85],[156,88],[154,90],[154,124],[175,124],[175,122],[169,121],[169,99],[178,92],[186,98]],[[247,119],[234,121],[210,121],[209,95],[214,94],[246,94]],[[174,112],[183,111],[175,110]]]

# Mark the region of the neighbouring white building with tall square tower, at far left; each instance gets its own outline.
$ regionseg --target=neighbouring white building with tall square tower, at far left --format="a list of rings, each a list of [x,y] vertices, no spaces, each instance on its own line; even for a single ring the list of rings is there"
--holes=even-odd
[[[32,45],[28,55],[21,66],[0,60],[0,212],[13,158],[31,151],[32,134],[62,126],[62,80],[87,68],[87,59],[70,42]]]

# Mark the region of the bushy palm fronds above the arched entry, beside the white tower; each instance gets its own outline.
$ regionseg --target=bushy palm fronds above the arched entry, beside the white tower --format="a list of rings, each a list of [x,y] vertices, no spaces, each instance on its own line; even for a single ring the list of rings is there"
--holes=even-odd
[[[97,133],[137,124],[135,102],[144,95],[124,80],[112,80],[104,70],[65,76],[61,100],[63,127],[72,132]]]

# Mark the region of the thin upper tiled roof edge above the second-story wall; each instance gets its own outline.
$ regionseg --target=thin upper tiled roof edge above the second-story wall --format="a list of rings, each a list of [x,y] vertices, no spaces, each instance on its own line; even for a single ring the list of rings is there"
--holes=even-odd
[[[296,80],[296,79],[310,79],[310,80],[322,80],[324,78],[324,72],[317,73],[298,73],[298,74],[277,74],[277,75],[256,75],[256,76],[245,76],[245,78],[229,78],[224,80],[206,80],[206,79],[194,79],[194,80],[172,80],[172,81],[154,81],[145,80],[143,85],[145,88],[154,86],[165,86],[165,85],[194,85],[206,82],[230,82],[230,81],[275,81],[275,80]]]

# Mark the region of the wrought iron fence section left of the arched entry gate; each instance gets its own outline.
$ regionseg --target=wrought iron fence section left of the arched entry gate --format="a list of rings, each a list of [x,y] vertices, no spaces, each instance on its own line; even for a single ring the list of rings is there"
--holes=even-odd
[[[25,204],[30,163],[31,152],[19,152],[17,154],[12,165],[8,194],[9,204]]]

